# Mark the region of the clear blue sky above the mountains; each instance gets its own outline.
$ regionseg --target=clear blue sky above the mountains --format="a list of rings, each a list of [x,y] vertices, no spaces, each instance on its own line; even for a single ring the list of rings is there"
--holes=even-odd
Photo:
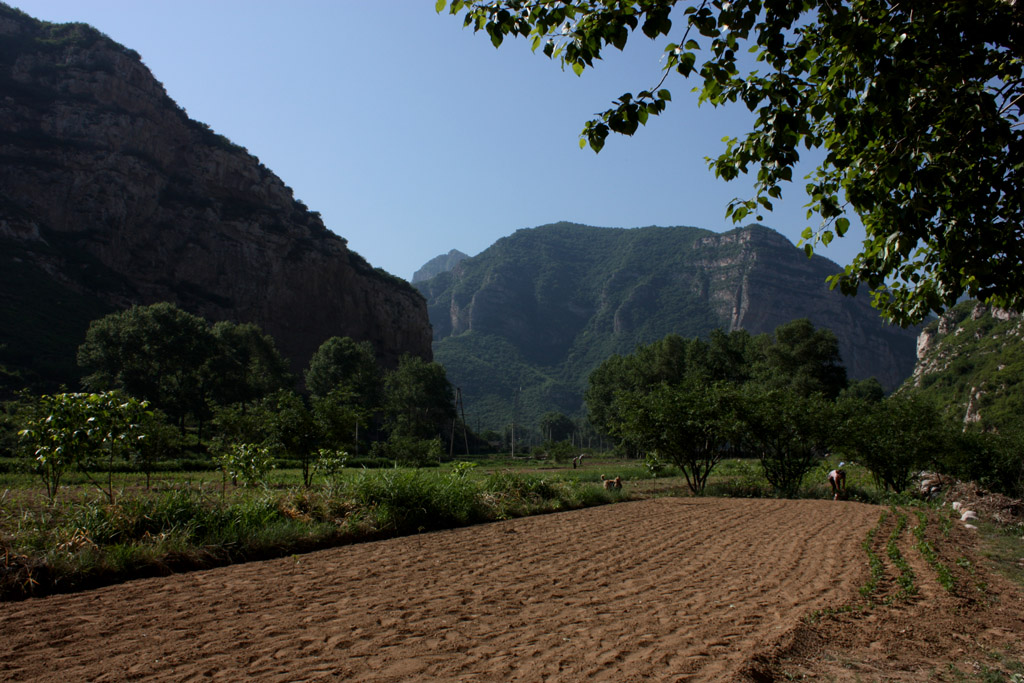
[[[600,155],[579,146],[591,115],[652,87],[662,47],[642,35],[577,77],[434,12],[433,0],[8,0],[47,22],[84,22],[136,50],[194,119],[249,150],[373,265],[410,279],[459,249],[568,220],[733,227],[751,182],[716,180],[705,157],[740,135],[740,106],[697,108],[692,85]],[[807,226],[795,183],[764,223]],[[851,230],[824,256],[846,264]],[[861,233],[862,234],[862,233]]]

